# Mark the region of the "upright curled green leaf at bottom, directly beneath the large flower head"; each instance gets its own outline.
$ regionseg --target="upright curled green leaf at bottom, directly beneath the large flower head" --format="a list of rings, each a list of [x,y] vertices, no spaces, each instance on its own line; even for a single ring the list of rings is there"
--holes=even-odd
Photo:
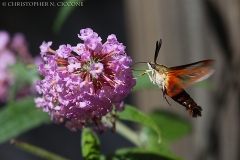
[[[84,128],[82,131],[82,155],[84,160],[100,159],[100,141],[89,128]]]

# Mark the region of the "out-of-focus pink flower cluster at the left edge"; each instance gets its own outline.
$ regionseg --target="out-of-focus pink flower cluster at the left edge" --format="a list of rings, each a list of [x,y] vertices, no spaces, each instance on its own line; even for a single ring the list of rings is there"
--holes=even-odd
[[[17,58],[18,57],[18,58]],[[39,56],[40,57],[40,56]],[[15,73],[9,69],[17,62],[24,64],[42,63],[42,59],[33,58],[28,50],[27,41],[22,33],[16,33],[13,37],[7,31],[0,31],[0,101],[6,102],[8,91],[16,80]],[[36,93],[36,90],[29,84],[25,84],[15,93],[15,99]]]

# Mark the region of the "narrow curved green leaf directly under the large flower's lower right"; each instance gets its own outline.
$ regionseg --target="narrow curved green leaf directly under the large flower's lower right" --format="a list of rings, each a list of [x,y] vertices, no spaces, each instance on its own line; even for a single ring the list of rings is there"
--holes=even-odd
[[[138,122],[142,125],[150,127],[157,133],[158,139],[159,141],[161,141],[161,131],[158,125],[152,120],[150,116],[144,114],[143,112],[139,111],[135,107],[126,105],[124,111],[120,112],[118,114],[118,117],[119,119],[122,119],[122,120]]]

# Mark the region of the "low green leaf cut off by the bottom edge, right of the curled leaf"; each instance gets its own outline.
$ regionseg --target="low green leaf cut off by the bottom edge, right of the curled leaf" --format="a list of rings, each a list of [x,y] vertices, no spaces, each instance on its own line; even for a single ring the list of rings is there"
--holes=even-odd
[[[125,148],[107,155],[106,160],[181,160],[181,158],[143,148]]]

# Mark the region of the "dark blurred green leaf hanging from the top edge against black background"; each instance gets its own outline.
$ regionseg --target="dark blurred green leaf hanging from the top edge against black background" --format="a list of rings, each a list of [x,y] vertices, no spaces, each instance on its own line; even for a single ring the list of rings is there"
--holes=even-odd
[[[65,0],[64,2],[83,2],[84,0]],[[57,18],[55,19],[54,23],[53,23],[53,31],[55,34],[58,34],[62,28],[62,25],[64,24],[64,22],[66,21],[66,19],[69,17],[69,15],[74,11],[74,9],[76,9],[76,7],[79,6],[62,6],[60,8],[60,11],[58,12]]]

